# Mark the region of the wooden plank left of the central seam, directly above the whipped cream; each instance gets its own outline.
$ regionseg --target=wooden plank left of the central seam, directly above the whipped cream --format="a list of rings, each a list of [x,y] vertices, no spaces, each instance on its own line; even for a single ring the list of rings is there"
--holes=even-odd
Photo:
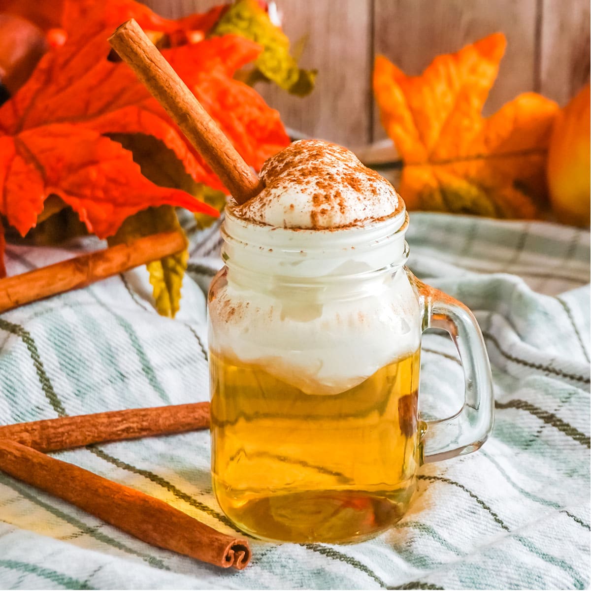
[[[316,68],[316,88],[304,98],[272,85],[256,89],[285,125],[340,144],[371,141],[371,0],[280,2],[292,43],[307,35],[301,66]]]

